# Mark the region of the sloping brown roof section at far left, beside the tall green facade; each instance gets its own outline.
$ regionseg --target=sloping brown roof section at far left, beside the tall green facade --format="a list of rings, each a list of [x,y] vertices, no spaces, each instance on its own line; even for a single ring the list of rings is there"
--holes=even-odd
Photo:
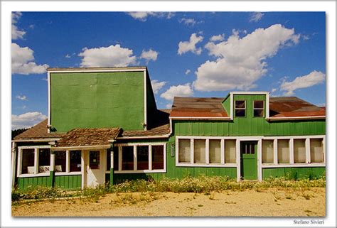
[[[36,124],[31,129],[23,131],[21,134],[18,134],[14,137],[15,140],[31,140],[31,139],[58,139],[64,134],[60,133],[48,133],[47,129],[48,121],[47,119],[41,121],[39,124]]]

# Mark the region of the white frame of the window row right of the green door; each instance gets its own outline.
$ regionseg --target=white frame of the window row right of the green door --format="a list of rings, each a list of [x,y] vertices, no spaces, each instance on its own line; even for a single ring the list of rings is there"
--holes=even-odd
[[[279,139],[289,140],[289,163],[278,163],[277,155],[277,141]],[[294,163],[294,139],[304,139],[306,146],[306,162],[305,163]],[[310,139],[322,139],[323,143],[323,162],[322,163],[311,163],[310,157]],[[287,167],[325,167],[326,166],[326,136],[267,136],[263,137],[262,140],[274,140],[274,162],[273,163],[262,163],[262,168],[287,168]]]

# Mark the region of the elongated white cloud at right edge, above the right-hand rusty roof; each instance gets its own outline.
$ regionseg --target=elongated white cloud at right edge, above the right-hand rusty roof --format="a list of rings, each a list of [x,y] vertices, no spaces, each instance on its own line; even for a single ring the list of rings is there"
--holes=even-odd
[[[304,89],[307,87],[312,87],[314,85],[322,84],[326,79],[326,74],[321,71],[312,71],[309,75],[296,77],[293,81],[287,82],[284,80],[282,82],[280,89],[284,91],[284,94],[291,96],[294,94],[296,89]]]

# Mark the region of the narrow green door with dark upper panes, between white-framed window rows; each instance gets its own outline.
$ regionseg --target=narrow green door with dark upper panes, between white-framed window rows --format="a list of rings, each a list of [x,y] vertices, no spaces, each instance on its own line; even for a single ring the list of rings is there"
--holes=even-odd
[[[257,180],[257,141],[240,142],[241,178]]]

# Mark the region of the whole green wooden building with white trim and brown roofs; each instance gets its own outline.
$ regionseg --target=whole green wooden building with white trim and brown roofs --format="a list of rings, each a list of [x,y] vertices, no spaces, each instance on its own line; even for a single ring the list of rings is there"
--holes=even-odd
[[[12,141],[13,185],[315,178],[325,173],[325,129],[325,108],[297,97],[175,97],[159,110],[146,67],[50,68],[48,119]]]

